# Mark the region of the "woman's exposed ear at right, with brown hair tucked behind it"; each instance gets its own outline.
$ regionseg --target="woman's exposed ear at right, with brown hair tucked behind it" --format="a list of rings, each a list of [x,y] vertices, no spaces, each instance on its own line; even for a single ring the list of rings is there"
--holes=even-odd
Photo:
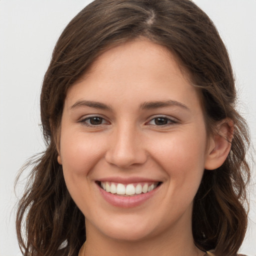
[[[217,124],[215,134],[210,138],[204,168],[213,170],[225,161],[233,137],[233,121],[226,118]]]

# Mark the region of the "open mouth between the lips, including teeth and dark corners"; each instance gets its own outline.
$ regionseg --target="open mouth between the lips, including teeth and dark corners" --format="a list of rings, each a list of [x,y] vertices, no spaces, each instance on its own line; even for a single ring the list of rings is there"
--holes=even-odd
[[[154,190],[162,182],[136,182],[123,184],[111,181],[96,181],[96,183],[100,188],[111,194],[119,196],[136,196]]]

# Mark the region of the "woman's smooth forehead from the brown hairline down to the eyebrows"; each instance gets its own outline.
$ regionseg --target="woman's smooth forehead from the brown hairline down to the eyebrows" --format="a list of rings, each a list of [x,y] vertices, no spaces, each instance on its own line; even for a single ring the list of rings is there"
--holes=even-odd
[[[123,104],[173,99],[199,103],[198,92],[187,77],[166,47],[140,38],[100,54],[69,88],[67,99],[86,96],[87,100],[103,101],[118,97]]]

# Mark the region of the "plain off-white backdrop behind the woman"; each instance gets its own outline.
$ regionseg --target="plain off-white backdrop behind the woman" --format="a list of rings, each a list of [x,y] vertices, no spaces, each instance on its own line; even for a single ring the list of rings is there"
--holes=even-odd
[[[54,44],[89,0],[0,0],[0,256],[21,255],[14,227],[14,179],[44,149],[39,94]],[[256,142],[256,0],[195,0],[223,38],[236,74],[238,107]],[[255,173],[255,171],[254,171]],[[255,174],[253,174],[255,183]],[[17,187],[21,194],[24,182]],[[241,252],[256,255],[256,196]]]

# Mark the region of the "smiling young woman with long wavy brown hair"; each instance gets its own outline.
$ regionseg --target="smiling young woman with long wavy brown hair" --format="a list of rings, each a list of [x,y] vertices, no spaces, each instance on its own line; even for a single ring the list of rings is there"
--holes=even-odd
[[[86,6],[44,77],[47,148],[19,203],[23,254],[236,255],[249,167],[235,96],[225,46],[193,2]]]

